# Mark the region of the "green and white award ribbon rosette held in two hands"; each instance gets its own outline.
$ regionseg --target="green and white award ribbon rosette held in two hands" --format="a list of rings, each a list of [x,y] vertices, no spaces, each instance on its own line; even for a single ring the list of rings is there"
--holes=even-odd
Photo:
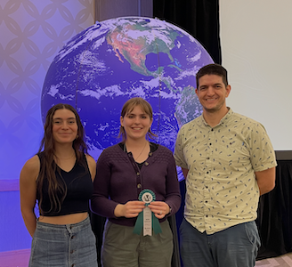
[[[150,207],[148,206],[155,200],[154,192],[152,190],[142,190],[139,194],[139,200],[145,202],[145,208],[138,215],[133,232],[140,235],[143,229],[143,236],[151,236],[153,229],[154,233],[158,234],[161,232],[158,218],[151,212]]]

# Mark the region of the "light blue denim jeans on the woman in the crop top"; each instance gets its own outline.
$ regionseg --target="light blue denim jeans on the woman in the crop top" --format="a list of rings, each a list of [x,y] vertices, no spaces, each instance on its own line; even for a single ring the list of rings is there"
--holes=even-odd
[[[95,236],[89,217],[80,223],[37,222],[29,267],[97,267]]]

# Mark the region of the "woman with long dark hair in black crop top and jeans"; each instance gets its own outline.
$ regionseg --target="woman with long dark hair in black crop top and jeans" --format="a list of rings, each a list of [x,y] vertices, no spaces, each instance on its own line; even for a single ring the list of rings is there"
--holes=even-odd
[[[74,108],[53,106],[38,153],[21,170],[21,214],[33,237],[29,267],[97,266],[88,217],[96,164],[84,135]]]

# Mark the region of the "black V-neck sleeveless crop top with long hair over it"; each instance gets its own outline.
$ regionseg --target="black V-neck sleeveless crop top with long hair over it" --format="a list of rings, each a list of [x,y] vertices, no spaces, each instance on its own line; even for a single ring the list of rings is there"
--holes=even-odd
[[[40,161],[42,162],[43,153],[37,154]],[[65,172],[59,166],[56,169],[57,180],[65,182],[67,187],[67,195],[64,198],[64,201],[61,205],[60,212],[50,211],[51,202],[48,195],[47,185],[48,181],[45,179],[43,186],[43,201],[41,206],[41,215],[45,216],[59,216],[65,214],[77,214],[89,211],[89,199],[93,195],[93,181],[91,174],[87,165],[87,160],[85,154],[83,155],[85,160],[85,166],[75,163],[75,166],[69,171]],[[61,172],[61,176],[58,172],[58,169]],[[39,194],[37,194],[37,200],[39,200]]]

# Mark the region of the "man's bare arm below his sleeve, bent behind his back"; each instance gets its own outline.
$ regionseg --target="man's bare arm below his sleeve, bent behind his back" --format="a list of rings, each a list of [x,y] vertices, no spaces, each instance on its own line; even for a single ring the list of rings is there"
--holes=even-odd
[[[276,167],[255,172],[255,179],[260,189],[260,195],[270,192],[275,187]]]

